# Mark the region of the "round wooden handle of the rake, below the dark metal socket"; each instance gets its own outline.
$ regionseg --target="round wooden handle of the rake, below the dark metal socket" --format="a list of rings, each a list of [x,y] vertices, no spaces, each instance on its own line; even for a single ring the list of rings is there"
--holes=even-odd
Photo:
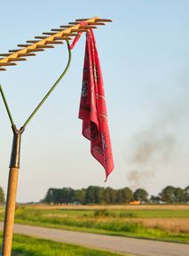
[[[10,168],[4,218],[4,240],[2,256],[11,256],[14,212],[18,185],[19,168]]]

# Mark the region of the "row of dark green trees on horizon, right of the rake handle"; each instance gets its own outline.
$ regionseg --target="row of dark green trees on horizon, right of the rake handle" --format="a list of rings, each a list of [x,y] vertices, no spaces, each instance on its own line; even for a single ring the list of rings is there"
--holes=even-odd
[[[158,196],[149,196],[143,188],[132,191],[130,188],[49,188],[43,203],[46,204],[129,204],[131,201],[143,203],[189,203],[189,186],[175,188],[167,186]]]

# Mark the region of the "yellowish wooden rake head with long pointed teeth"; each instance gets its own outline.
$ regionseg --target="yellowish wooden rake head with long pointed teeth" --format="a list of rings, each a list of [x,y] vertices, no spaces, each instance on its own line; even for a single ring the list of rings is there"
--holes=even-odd
[[[86,25],[82,25],[81,21]],[[0,53],[3,58],[0,59],[0,71],[6,70],[5,66],[15,66],[16,61],[27,60],[24,57],[35,56],[34,52],[43,52],[47,48],[54,48],[54,45],[64,44],[65,40],[72,40],[74,36],[79,36],[79,32],[87,32],[90,28],[106,25],[105,22],[112,20],[100,19],[94,17],[91,19],[77,19],[75,22],[69,22],[69,25],[62,25],[59,28],[52,28],[52,32],[43,32],[44,36],[35,36],[38,40],[28,40],[28,44],[18,44],[22,49],[9,50],[8,53]]]

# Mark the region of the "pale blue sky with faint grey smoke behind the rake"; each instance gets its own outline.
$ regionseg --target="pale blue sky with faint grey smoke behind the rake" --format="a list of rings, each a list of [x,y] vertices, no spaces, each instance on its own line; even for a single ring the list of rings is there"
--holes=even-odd
[[[78,18],[112,19],[95,30],[106,90],[114,172],[106,181],[78,119],[85,36],[71,67],[22,136],[18,202],[48,188],[146,188],[157,195],[189,180],[189,2],[186,0],[2,1],[0,52]],[[66,45],[0,73],[20,127],[67,64]],[[0,100],[0,186],[6,191],[12,128]]]

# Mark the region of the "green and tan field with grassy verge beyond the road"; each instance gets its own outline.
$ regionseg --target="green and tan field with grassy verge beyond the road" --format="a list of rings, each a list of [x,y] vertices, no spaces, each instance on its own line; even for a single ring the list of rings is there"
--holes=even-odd
[[[0,211],[3,220],[4,212]],[[189,205],[18,206],[17,223],[189,244]]]

